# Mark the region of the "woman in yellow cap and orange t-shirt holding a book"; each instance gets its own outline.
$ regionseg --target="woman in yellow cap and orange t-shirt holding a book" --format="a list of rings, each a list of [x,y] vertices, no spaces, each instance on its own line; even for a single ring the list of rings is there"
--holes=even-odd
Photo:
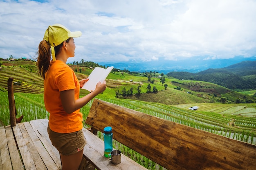
[[[79,82],[66,62],[74,57],[73,37],[81,34],[54,24],[47,28],[38,47],[37,66],[44,79],[45,108],[50,113],[48,134],[61,155],[63,170],[77,170],[83,157],[85,139],[80,108],[106,89],[106,82],[99,82],[93,92],[79,98],[80,88],[88,79]]]

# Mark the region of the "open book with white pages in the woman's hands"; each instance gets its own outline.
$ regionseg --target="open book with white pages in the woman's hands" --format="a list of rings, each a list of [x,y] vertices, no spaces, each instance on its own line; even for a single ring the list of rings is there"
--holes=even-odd
[[[99,81],[103,83],[113,68],[113,66],[108,67],[107,69],[100,67],[94,68],[88,77],[89,80],[83,85],[82,89],[86,89],[89,92],[94,91],[97,83],[99,83]]]

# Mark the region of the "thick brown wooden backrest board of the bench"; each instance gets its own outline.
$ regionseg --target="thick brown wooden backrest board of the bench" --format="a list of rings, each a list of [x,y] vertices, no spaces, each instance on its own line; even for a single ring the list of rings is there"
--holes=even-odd
[[[256,145],[94,99],[86,123],[167,169],[254,169]]]

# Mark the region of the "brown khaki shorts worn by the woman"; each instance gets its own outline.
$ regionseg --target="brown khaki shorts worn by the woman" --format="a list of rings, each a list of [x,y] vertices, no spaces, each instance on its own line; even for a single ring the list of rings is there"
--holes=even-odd
[[[78,153],[85,146],[83,130],[72,133],[57,133],[47,128],[52,145],[57,148],[62,155],[72,155]]]

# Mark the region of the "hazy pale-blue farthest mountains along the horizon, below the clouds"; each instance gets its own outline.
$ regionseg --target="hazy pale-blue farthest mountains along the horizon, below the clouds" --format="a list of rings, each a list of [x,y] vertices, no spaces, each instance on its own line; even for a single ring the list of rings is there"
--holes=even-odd
[[[101,62],[99,65],[114,66],[120,70],[134,72],[156,71],[167,74],[168,72],[197,73],[209,68],[225,68],[241,61],[256,61],[256,57],[234,57],[230,59],[202,59],[202,57],[181,58],[177,61],[159,58],[152,61],[128,61],[128,62]]]

